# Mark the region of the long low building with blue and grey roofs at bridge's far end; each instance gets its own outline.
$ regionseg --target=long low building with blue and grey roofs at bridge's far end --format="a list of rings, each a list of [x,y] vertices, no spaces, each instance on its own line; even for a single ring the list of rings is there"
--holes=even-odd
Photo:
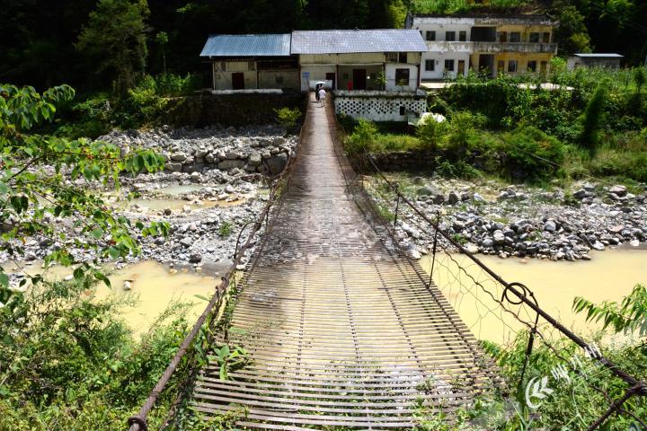
[[[214,91],[308,92],[323,81],[338,113],[407,121],[427,110],[419,90],[427,49],[416,30],[293,31],[209,36],[201,57],[211,61]]]

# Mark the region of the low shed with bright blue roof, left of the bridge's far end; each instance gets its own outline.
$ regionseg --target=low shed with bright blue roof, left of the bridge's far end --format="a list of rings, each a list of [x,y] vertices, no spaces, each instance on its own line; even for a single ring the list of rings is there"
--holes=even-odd
[[[286,34],[216,34],[200,57],[211,63],[214,90],[298,90],[298,59]]]

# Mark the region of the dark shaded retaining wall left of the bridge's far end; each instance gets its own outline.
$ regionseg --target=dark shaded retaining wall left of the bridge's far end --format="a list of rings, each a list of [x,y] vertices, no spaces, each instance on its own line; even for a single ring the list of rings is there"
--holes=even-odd
[[[306,98],[297,92],[199,95],[168,101],[164,124],[174,127],[246,126],[276,122],[274,109],[298,108],[305,112]]]

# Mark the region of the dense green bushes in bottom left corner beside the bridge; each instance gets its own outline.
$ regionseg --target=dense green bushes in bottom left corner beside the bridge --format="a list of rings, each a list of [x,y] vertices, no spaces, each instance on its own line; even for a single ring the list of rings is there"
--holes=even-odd
[[[0,430],[122,428],[180,346],[186,307],[169,308],[137,341],[120,319],[131,298],[100,301],[84,280],[31,290],[0,309]],[[171,399],[163,394],[153,423]]]

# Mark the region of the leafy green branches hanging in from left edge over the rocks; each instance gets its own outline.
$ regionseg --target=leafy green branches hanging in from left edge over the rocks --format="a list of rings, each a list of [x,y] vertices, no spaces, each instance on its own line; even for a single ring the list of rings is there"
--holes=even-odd
[[[93,184],[119,187],[120,172],[155,172],[164,159],[151,151],[121,154],[120,147],[87,139],[66,140],[31,133],[40,123],[51,121],[57,105],[70,101],[74,90],[61,85],[40,94],[32,87],[0,85],[0,251],[20,259],[30,239],[54,244],[46,264],[76,263],[75,278],[88,283],[108,283],[99,268],[101,259],[137,254],[132,233],[165,233],[166,224],[132,226],[114,214]],[[66,226],[75,230],[71,241]],[[94,251],[92,262],[76,262],[72,249]],[[91,277],[85,277],[89,275]],[[23,279],[21,286],[27,282]],[[40,277],[31,277],[32,283]],[[12,312],[22,295],[9,288],[9,277],[0,267],[0,312]]]

